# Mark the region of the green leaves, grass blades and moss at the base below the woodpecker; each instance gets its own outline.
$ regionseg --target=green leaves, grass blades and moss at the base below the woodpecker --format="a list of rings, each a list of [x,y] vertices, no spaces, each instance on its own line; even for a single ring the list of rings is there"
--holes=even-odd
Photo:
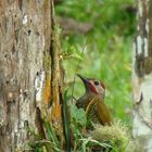
[[[64,94],[64,104],[67,102],[67,92]],[[71,115],[71,118],[67,116]],[[46,138],[37,135],[35,131],[29,130],[34,136],[35,141],[29,142],[30,151],[35,152],[60,152],[66,148],[67,152],[89,152],[92,149],[100,148],[101,150],[113,152],[124,151],[128,141],[127,127],[122,123],[116,122],[112,126],[102,126],[93,124],[90,126],[87,122],[85,111],[77,109],[75,104],[69,102],[68,106],[63,106],[64,121],[63,130],[65,140],[62,141],[56,134],[50,122],[43,118],[43,128],[46,130]],[[67,121],[68,118],[68,121]],[[90,131],[91,128],[91,131]],[[89,130],[88,130],[89,129]],[[69,142],[71,140],[71,142]],[[66,145],[66,147],[65,147]],[[29,149],[28,149],[29,150]]]

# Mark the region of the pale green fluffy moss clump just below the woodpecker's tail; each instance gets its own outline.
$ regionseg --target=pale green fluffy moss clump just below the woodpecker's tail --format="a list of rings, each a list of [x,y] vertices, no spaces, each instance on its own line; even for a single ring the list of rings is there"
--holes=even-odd
[[[97,125],[89,136],[97,141],[111,144],[115,151],[125,150],[130,139],[128,128],[121,122],[115,122],[112,126]]]

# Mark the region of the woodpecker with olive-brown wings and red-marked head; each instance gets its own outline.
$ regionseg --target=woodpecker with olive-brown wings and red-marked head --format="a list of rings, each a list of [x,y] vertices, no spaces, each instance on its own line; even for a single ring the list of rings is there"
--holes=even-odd
[[[78,109],[83,107],[92,122],[98,122],[101,125],[111,125],[111,113],[104,103],[104,84],[98,79],[85,78],[79,74],[77,76],[83,80],[86,92],[77,100],[76,106]]]

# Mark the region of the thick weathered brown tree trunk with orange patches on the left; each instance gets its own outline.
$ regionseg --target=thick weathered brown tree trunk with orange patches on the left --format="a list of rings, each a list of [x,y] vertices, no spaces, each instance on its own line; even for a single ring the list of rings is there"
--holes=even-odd
[[[0,152],[25,150],[50,101],[60,119],[55,38],[52,0],[0,0]]]

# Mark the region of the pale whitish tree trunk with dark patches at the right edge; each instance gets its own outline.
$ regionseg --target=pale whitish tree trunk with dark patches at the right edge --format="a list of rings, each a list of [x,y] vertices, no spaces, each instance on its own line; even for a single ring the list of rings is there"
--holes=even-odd
[[[138,0],[134,50],[134,129],[138,152],[152,151],[152,1]]]

